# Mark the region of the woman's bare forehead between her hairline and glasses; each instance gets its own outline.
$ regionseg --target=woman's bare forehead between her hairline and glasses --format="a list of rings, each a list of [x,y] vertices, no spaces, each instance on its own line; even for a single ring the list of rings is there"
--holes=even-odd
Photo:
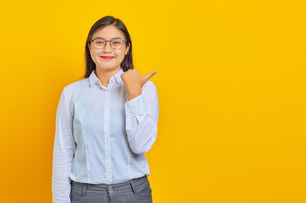
[[[108,25],[105,26],[99,30],[97,30],[93,35],[92,38],[96,38],[96,37],[100,37],[100,38],[104,38],[104,39],[111,39],[111,38],[115,38],[115,37],[119,37],[124,39],[124,35],[123,33],[116,28],[116,26],[114,25]]]

